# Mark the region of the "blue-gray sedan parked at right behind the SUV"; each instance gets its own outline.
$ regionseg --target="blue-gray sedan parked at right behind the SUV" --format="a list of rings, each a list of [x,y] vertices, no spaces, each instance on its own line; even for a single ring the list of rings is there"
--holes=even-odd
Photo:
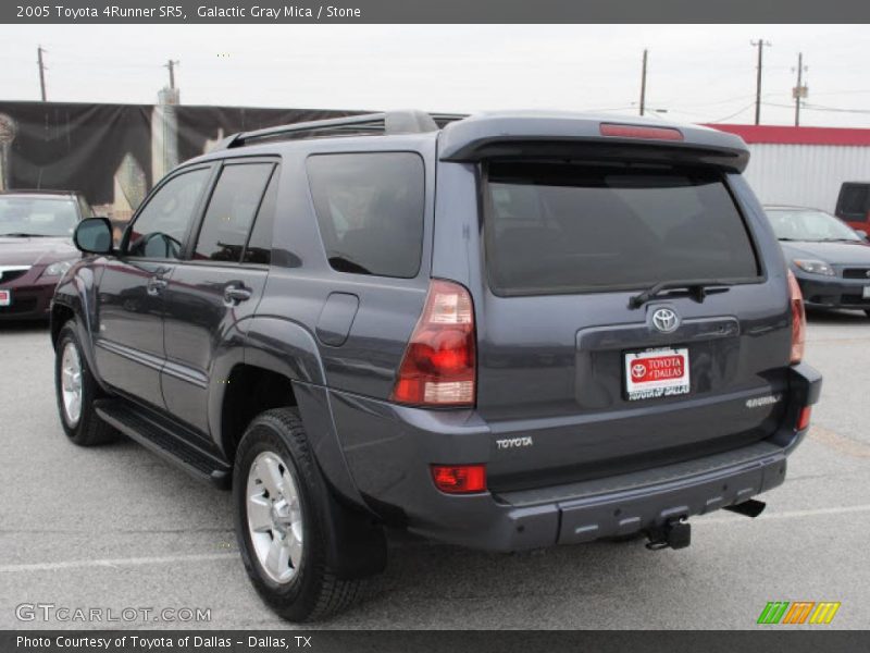
[[[870,244],[833,215],[765,207],[807,306],[855,308],[870,317]]]

